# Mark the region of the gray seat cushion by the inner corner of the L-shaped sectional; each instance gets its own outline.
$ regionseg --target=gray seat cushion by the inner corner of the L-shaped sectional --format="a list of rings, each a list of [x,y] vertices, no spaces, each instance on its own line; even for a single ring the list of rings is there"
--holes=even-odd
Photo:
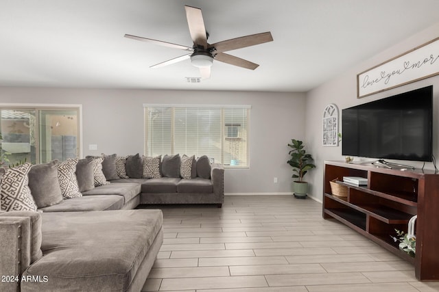
[[[141,185],[139,183],[110,183],[95,187],[90,191],[84,191],[84,196],[108,196],[117,195],[124,198],[123,204],[140,194]]]

